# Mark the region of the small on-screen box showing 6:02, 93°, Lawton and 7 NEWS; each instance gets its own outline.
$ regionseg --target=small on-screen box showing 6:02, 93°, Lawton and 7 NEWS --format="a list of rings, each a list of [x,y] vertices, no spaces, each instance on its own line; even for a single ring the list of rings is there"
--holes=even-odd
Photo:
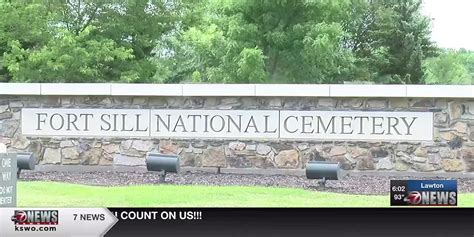
[[[391,206],[457,206],[457,180],[391,180]]]

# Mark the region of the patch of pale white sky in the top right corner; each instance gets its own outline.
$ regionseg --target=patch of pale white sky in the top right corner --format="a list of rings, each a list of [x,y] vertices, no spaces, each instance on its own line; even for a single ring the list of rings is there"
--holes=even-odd
[[[422,12],[439,47],[474,50],[474,0],[423,0]]]

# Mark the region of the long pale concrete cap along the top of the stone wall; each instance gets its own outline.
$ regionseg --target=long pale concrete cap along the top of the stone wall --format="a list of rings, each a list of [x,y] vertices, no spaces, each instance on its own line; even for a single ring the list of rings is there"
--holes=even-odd
[[[474,98],[474,85],[0,83],[0,95]]]

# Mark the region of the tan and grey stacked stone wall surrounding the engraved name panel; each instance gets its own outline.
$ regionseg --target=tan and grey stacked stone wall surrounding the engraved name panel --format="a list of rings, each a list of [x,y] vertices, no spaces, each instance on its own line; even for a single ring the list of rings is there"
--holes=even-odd
[[[22,108],[338,110],[433,112],[427,142],[27,137]],[[150,151],[179,154],[182,167],[302,169],[337,161],[346,170],[473,172],[474,100],[446,98],[0,96],[0,143],[38,164],[144,166]]]

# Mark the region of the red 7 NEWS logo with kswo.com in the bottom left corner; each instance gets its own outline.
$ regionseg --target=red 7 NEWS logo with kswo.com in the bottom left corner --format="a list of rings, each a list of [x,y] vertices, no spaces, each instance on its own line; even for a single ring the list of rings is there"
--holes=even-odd
[[[15,224],[15,231],[56,231],[59,211],[15,210],[11,220]]]

